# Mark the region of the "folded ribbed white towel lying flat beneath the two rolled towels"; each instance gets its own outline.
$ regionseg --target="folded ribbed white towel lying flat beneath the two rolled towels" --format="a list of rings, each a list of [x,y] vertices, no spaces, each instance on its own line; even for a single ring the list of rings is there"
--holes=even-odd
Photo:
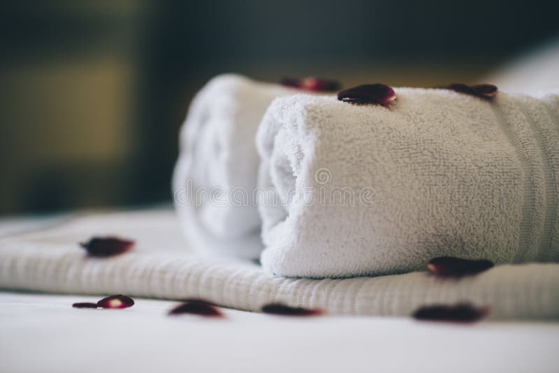
[[[409,316],[424,305],[471,302],[490,306],[493,319],[559,318],[559,264],[498,265],[460,280],[435,279],[426,272],[287,279],[270,277],[254,263],[191,255],[170,210],[93,214],[49,224],[0,238],[0,288],[195,297],[248,311],[283,302],[329,314],[378,316]],[[112,258],[88,258],[78,242],[92,235],[131,238],[136,247]]]

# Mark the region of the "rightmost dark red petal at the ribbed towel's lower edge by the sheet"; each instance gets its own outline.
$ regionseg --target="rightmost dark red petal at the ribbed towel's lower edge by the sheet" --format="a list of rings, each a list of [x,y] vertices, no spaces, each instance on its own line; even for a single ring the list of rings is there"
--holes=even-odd
[[[489,307],[474,307],[472,305],[434,305],[421,307],[412,315],[417,320],[453,321],[471,323],[489,314]]]

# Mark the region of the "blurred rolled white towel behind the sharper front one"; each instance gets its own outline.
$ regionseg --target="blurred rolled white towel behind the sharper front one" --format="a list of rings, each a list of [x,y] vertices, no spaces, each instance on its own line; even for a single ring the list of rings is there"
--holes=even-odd
[[[254,136],[273,98],[296,92],[226,74],[192,101],[180,133],[173,194],[185,236],[201,254],[259,257]]]

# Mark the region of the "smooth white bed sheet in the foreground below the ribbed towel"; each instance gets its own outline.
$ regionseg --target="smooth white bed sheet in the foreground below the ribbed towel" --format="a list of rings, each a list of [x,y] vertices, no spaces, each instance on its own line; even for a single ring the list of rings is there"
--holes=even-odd
[[[222,309],[167,316],[177,302],[75,309],[94,295],[0,293],[1,372],[555,373],[557,322],[426,323],[297,318]],[[281,354],[281,355],[280,355]]]

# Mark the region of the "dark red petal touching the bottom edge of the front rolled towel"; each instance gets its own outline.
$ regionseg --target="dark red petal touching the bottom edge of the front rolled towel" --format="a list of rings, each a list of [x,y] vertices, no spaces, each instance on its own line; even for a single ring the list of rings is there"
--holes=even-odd
[[[427,269],[437,277],[463,277],[476,275],[493,267],[493,262],[486,259],[470,260],[440,256],[427,263]]]

